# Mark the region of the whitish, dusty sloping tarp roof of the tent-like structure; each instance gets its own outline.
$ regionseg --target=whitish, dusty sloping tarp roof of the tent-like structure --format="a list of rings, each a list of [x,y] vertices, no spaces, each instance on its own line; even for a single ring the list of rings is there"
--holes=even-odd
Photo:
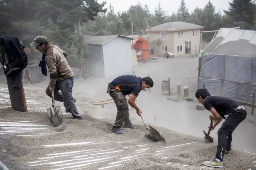
[[[256,31],[220,28],[203,53],[256,57]]]

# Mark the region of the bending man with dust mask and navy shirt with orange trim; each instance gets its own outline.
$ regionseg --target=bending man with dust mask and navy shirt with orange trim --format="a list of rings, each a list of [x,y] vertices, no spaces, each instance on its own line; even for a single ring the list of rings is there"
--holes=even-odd
[[[136,109],[138,115],[142,113],[140,108],[136,105],[135,99],[138,97],[141,90],[147,91],[153,87],[154,82],[150,77],[140,78],[135,75],[123,75],[115,78],[108,84],[108,91],[111,98],[115,101],[117,114],[116,121],[113,125],[112,131],[116,134],[123,134],[120,129],[123,128],[135,129],[130,121],[129,108],[125,96],[130,95],[128,100],[129,105]]]

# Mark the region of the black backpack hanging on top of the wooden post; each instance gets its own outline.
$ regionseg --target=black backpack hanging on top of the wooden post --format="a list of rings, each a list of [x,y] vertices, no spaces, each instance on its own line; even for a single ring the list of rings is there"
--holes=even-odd
[[[0,38],[0,62],[5,76],[14,76],[28,66],[28,56],[19,38],[4,35]]]

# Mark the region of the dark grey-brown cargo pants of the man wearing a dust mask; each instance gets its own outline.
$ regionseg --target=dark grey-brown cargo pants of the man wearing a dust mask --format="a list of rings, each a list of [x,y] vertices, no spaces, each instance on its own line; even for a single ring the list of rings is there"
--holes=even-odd
[[[113,127],[121,128],[124,125],[131,125],[129,108],[125,96],[119,90],[108,85],[107,93],[114,100],[117,108],[116,121]]]

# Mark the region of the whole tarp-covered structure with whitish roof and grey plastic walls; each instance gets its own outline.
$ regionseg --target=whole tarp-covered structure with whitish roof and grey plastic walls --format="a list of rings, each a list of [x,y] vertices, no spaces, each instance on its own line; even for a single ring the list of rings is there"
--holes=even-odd
[[[251,102],[256,93],[256,31],[221,28],[202,51],[198,87]]]

